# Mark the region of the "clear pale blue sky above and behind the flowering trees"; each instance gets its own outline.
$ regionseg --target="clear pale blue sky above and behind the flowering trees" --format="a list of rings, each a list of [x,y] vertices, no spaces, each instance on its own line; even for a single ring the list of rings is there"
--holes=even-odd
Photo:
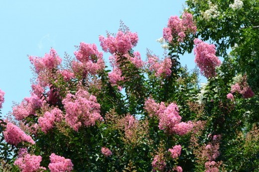
[[[5,92],[2,113],[12,101],[30,96],[32,72],[27,55],[44,56],[53,47],[60,57],[73,55],[80,42],[96,43],[106,31],[116,33],[123,20],[139,42],[134,50],[145,59],[146,48],[162,56],[155,40],[171,15],[180,15],[184,0],[1,0],[0,89]],[[109,54],[104,54],[108,62]],[[194,55],[181,57],[194,68]]]

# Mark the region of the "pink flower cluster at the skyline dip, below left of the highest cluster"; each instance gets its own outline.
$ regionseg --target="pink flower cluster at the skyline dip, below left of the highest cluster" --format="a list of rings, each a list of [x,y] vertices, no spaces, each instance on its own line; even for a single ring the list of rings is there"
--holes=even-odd
[[[157,77],[168,77],[171,75],[172,61],[170,58],[165,58],[160,62],[158,57],[148,56],[147,65],[149,70],[154,71]]]

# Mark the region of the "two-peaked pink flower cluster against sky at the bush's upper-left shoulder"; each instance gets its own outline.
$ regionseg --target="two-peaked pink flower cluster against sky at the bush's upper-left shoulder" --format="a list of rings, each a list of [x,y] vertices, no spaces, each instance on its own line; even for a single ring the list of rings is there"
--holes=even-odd
[[[44,57],[29,56],[29,60],[30,63],[34,65],[37,74],[44,72],[46,69],[51,71],[53,68],[57,68],[62,61],[53,48],[51,48],[49,54],[45,54]]]

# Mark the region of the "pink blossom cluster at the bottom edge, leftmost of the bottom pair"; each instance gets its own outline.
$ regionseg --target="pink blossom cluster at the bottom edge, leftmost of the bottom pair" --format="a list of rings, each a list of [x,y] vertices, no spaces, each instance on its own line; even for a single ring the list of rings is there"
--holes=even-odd
[[[40,167],[41,159],[41,156],[29,155],[26,150],[21,150],[14,165],[18,166],[21,172],[38,172],[46,170],[46,168]]]

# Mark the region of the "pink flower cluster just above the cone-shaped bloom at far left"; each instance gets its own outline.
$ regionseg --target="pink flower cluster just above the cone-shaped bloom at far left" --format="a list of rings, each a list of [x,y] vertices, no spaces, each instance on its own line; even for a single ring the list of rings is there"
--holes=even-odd
[[[35,93],[30,97],[25,97],[19,105],[12,108],[12,114],[17,120],[22,120],[30,114],[35,114],[36,109],[40,108],[43,101]]]

